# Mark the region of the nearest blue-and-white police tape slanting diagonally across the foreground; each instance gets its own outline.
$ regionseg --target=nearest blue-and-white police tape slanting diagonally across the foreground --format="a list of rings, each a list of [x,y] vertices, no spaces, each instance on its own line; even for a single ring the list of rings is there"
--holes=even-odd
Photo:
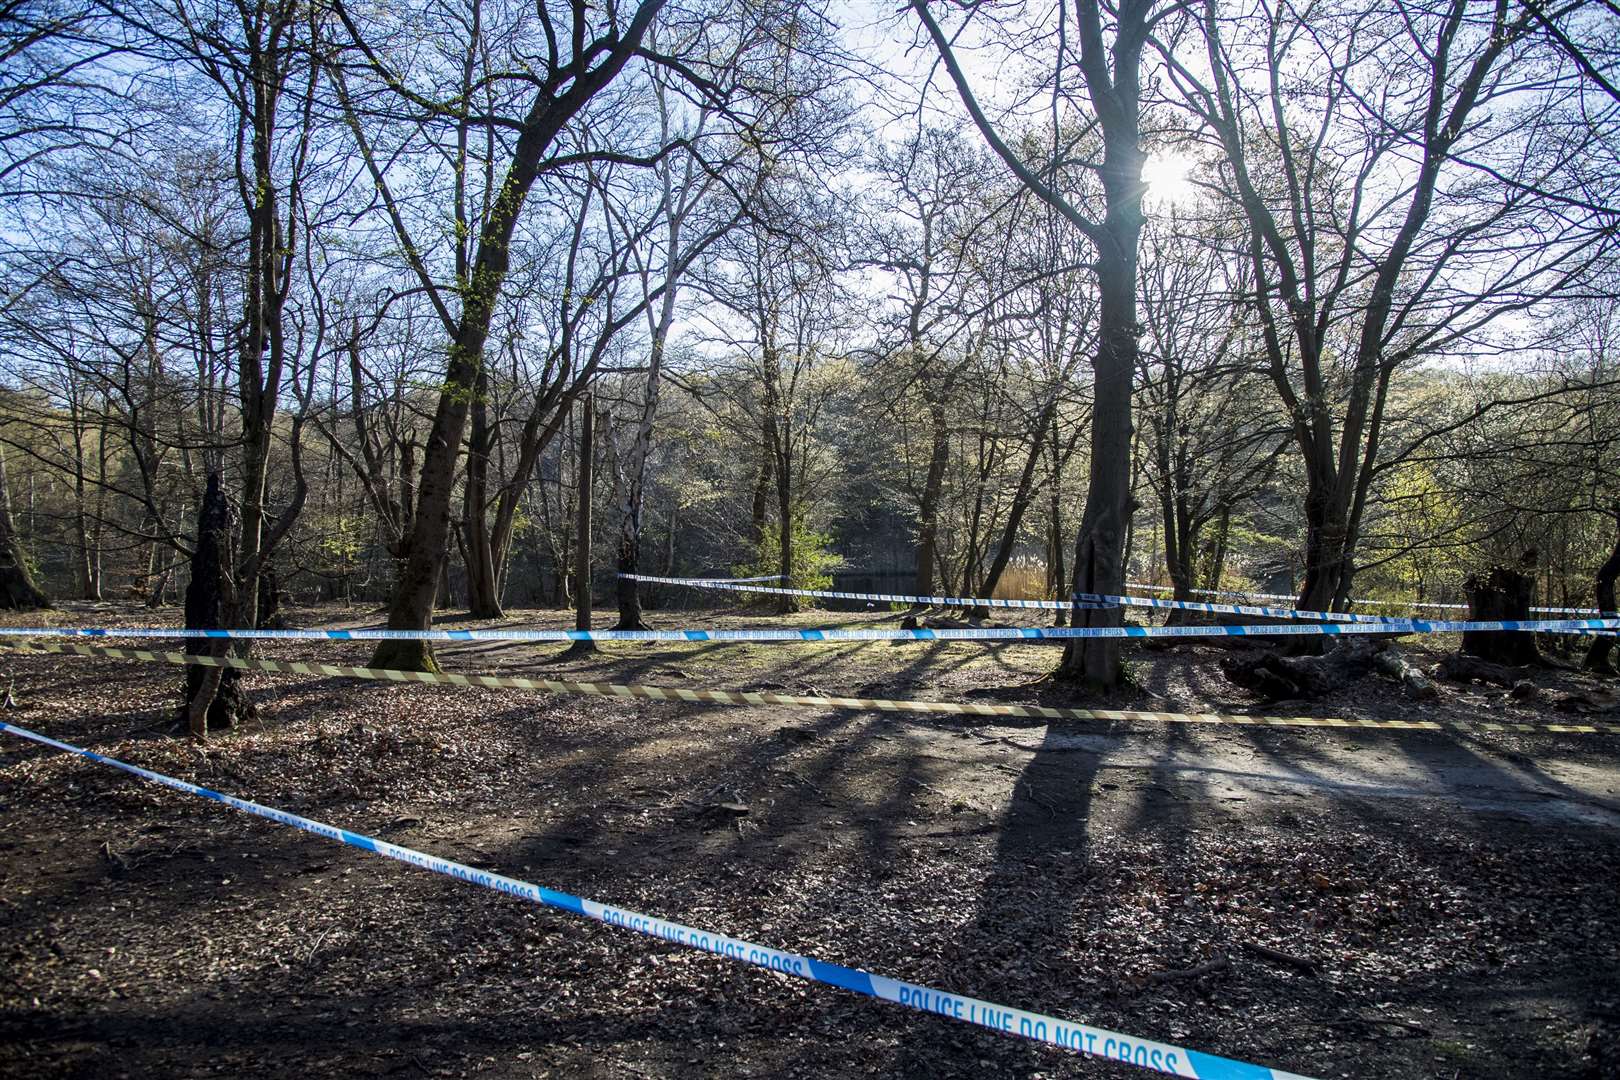
[[[1087,1057],[1119,1061],[1131,1065],[1140,1065],[1142,1069],[1152,1069],[1153,1072],[1170,1074],[1173,1077],[1205,1077],[1210,1080],[1307,1080],[1306,1077],[1283,1072],[1280,1069],[1251,1065],[1230,1057],[1204,1054],[1186,1046],[1160,1043],[1157,1040],[1142,1040],[1134,1035],[1121,1035],[1118,1031],[1110,1031],[1108,1028],[1061,1020],[1038,1012],[1008,1009],[977,997],[967,997],[964,994],[953,994],[917,983],[886,978],[862,968],[829,963],[826,960],[816,960],[810,955],[784,952],[770,946],[755,944],[742,938],[732,938],[729,934],[672,923],[669,920],[658,918],[656,915],[642,915],[640,912],[632,912],[629,908],[586,900],[585,897],[577,897],[569,892],[559,892],[557,889],[548,889],[517,878],[507,878],[505,874],[478,870],[476,866],[468,866],[467,863],[457,863],[449,858],[441,858],[439,855],[429,855],[426,852],[418,852],[416,848],[390,844],[363,832],[352,832],[348,829],[340,829],[337,826],[329,826],[311,818],[288,813],[285,810],[275,810],[274,806],[254,803],[246,798],[225,795],[188,780],[180,780],[162,772],[143,769],[141,766],[130,764],[126,761],[118,761],[117,758],[99,755],[94,750],[58,742],[49,735],[31,732],[26,727],[0,722],[0,730],[63,753],[78,755],[97,764],[122,769],[141,777],[143,780],[160,784],[177,792],[185,792],[186,795],[207,798],[233,810],[275,821],[277,824],[313,832],[314,836],[327,840],[337,840],[339,844],[347,844],[348,847],[356,847],[363,852],[371,852],[373,855],[382,855],[384,858],[408,863],[418,870],[428,870],[436,874],[455,878],[457,881],[504,892],[505,895],[541,904],[572,915],[583,915],[585,918],[596,920],[598,923],[629,929],[646,938],[656,938],[676,946],[711,952],[727,960],[737,960],[739,963],[750,963],[753,967],[765,968],[766,972],[779,972],[782,975],[795,975],[812,983],[841,986],[857,994],[915,1009],[917,1012],[938,1014],[953,1020],[962,1020],[966,1023],[988,1028],[991,1031],[1003,1031],[1006,1035],[1035,1043],[1047,1043],[1050,1046],[1079,1051]]]

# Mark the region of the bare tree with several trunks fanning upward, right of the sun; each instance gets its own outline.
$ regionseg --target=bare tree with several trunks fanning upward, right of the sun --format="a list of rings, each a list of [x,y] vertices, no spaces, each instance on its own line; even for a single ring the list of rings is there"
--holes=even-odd
[[[1205,70],[1178,58],[1184,37],[1160,42],[1247,232],[1249,300],[1304,460],[1302,609],[1349,597],[1395,376],[1481,348],[1607,243],[1581,193],[1601,125],[1578,120],[1576,78],[1534,26],[1508,0],[1236,15],[1205,0]]]

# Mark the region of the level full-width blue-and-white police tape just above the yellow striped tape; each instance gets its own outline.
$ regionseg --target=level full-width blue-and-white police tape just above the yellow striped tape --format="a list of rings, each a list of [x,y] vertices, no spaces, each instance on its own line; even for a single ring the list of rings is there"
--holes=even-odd
[[[5,638],[209,638],[243,641],[1069,641],[1074,638],[1275,638],[1364,633],[1620,630],[1620,619],[1390,619],[1247,627],[961,627],[917,630],[193,630],[185,627],[0,627]]]

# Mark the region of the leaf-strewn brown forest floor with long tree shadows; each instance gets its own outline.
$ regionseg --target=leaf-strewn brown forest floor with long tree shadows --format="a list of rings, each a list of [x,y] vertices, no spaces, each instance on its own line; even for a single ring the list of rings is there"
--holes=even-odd
[[[1455,641],[1405,648],[1432,662]],[[562,649],[441,657],[687,688],[1464,729],[1620,721],[1612,695],[1562,670],[1537,677],[1541,703],[1456,683],[1416,701],[1369,678],[1262,708],[1212,646],[1131,644],[1134,688],[1106,701],[1042,682],[1058,649],[1040,643]],[[366,661],[358,643],[256,654]],[[261,717],[201,746],[173,733],[178,669],[0,659],[13,724],[708,931],[1309,1077],[1620,1077],[1617,735],[1048,724],[251,674]],[[1558,712],[1563,691],[1599,712]],[[539,908],[10,737],[0,857],[5,1077],[1147,1075]]]

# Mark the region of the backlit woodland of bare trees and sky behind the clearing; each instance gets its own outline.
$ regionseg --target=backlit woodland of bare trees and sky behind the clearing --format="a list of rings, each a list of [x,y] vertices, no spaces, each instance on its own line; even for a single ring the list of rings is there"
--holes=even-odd
[[[227,627],[580,562],[620,627],[638,568],[1615,607],[1604,5],[5,16],[15,606],[177,602],[215,476]]]

